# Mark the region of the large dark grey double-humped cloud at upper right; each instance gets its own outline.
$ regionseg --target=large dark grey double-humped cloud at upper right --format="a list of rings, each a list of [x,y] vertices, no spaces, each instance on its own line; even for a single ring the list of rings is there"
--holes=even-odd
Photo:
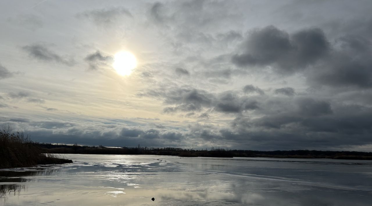
[[[232,56],[238,66],[272,65],[280,73],[294,73],[323,58],[329,50],[324,32],[305,29],[289,35],[274,26],[250,33],[244,52]]]

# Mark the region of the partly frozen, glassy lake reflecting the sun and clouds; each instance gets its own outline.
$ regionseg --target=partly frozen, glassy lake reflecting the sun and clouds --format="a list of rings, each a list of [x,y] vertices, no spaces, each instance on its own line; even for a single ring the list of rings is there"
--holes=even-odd
[[[0,170],[0,205],[370,206],[372,202],[372,161],[64,156],[74,163]]]

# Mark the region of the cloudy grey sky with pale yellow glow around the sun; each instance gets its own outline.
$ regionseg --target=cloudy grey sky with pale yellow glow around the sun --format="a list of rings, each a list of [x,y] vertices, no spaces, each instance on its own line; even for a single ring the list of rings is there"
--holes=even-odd
[[[0,1],[0,124],[44,143],[372,151],[371,8]]]

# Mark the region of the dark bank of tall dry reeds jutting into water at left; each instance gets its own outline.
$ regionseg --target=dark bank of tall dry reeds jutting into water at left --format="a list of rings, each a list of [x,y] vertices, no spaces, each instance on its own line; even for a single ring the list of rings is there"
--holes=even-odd
[[[10,127],[0,130],[0,169],[32,167],[38,164],[71,163],[55,154],[45,154],[23,133],[12,133]]]

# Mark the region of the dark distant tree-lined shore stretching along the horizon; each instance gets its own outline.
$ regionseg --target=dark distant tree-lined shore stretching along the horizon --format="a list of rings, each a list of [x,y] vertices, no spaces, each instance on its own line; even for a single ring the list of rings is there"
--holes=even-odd
[[[43,153],[54,154],[127,154],[127,155],[168,155],[179,157],[273,157],[273,158],[328,158],[344,160],[372,160],[372,152],[359,151],[321,151],[321,150],[231,150],[211,148],[211,150],[183,149],[174,147],[90,147],[35,143]]]

